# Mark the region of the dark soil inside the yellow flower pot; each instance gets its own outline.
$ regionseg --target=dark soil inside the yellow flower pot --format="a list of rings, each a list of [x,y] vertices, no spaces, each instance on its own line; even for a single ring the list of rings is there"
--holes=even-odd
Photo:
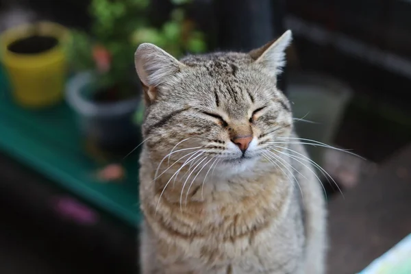
[[[8,45],[8,50],[18,54],[38,54],[53,49],[58,40],[51,36],[29,36]]]

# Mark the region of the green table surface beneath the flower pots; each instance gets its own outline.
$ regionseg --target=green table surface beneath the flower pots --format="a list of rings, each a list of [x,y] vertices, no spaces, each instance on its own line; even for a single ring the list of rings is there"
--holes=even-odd
[[[47,110],[25,110],[12,100],[0,68],[0,150],[119,219],[138,225],[138,151],[122,163],[123,182],[102,183],[101,164],[86,155],[75,115],[62,102]]]

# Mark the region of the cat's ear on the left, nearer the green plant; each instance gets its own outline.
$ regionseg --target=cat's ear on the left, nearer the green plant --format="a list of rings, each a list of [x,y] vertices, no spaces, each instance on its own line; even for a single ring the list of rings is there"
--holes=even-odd
[[[147,103],[152,103],[157,97],[158,86],[184,66],[169,53],[150,43],[138,46],[134,62]]]

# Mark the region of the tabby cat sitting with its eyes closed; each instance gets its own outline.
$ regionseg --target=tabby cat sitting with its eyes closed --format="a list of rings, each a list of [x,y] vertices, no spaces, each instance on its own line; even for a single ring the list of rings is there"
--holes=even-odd
[[[324,195],[276,88],[291,40],[181,60],[136,50],[142,274],[325,273]]]

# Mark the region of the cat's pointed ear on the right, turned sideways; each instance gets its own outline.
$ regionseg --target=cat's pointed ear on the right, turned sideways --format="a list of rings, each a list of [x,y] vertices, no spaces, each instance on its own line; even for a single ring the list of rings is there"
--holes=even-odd
[[[286,65],[286,48],[290,45],[292,40],[291,31],[288,30],[278,38],[266,45],[254,49],[249,52],[249,55],[255,63],[262,64],[270,73],[279,75],[282,68]]]

